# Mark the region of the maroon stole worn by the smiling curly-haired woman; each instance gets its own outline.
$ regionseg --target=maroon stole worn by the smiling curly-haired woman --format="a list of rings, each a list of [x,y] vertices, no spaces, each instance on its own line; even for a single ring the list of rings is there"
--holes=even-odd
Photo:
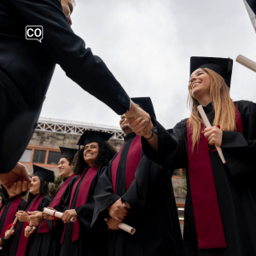
[[[76,189],[77,189],[77,187],[79,185],[79,182],[80,182],[81,178],[84,177],[84,173],[85,173],[85,171],[87,169],[88,169],[88,167],[86,167],[84,169],[83,174],[79,177],[79,179],[77,180],[77,182],[73,186],[73,189],[72,189],[72,192],[71,192],[71,196],[70,196],[70,201],[69,201],[68,209],[71,209],[72,202],[73,202],[73,196],[74,196],[74,194],[76,192]],[[95,169],[94,167],[90,167],[88,172],[86,172],[85,177],[84,177],[84,179],[83,179],[83,181],[82,181],[82,183],[81,183],[81,185],[79,187],[79,195],[78,195],[78,199],[77,199],[77,202],[76,202],[76,208],[86,204],[87,197],[88,197],[89,190],[90,190],[90,185],[92,183],[93,178],[96,176],[97,171],[98,171],[98,169]],[[63,234],[62,234],[62,237],[61,237],[61,244],[62,244],[62,242],[64,240],[66,227],[67,227],[67,224],[65,224],[65,226],[64,226]],[[79,239],[79,230],[80,230],[79,220],[77,218],[75,220],[75,222],[73,223],[72,241],[76,241],[76,240]]]

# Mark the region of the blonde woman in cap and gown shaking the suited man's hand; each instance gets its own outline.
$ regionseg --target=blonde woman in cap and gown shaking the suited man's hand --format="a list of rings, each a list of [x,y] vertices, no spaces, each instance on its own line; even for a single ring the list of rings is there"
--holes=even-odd
[[[148,128],[153,125],[140,132],[144,136],[143,150],[150,159],[167,168],[186,167],[188,195],[183,230],[186,256],[256,255],[256,108],[253,102],[231,101],[231,71],[230,59],[191,57],[192,106],[205,106],[210,123],[220,125],[220,129],[218,126],[205,129],[197,108],[193,108],[193,116],[198,117],[201,128],[193,153],[196,129],[191,128],[188,119],[174,127],[176,139],[153,118],[157,135],[146,141],[151,136]],[[221,101],[217,103],[216,99]],[[236,128],[225,127],[231,122]],[[139,129],[136,124],[130,123],[135,130]],[[221,146],[226,164],[217,151],[209,151],[214,150],[213,144]]]

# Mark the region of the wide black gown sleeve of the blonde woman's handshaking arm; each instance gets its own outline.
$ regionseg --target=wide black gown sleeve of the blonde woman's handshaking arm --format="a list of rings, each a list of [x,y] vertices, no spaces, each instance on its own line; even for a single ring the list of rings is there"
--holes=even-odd
[[[160,123],[151,117],[155,133],[158,135],[158,152],[148,144],[142,137],[143,152],[150,160],[154,160],[167,170],[183,168],[187,166],[188,154],[186,147],[186,119],[179,122],[171,131],[160,125]]]

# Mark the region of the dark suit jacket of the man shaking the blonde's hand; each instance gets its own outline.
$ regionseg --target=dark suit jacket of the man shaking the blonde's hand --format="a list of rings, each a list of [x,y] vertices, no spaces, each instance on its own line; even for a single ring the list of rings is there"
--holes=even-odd
[[[129,96],[73,32],[60,2],[0,1],[0,172],[9,172],[24,153],[56,63],[114,112],[123,114],[130,108]],[[42,43],[26,40],[26,26],[44,27]]]

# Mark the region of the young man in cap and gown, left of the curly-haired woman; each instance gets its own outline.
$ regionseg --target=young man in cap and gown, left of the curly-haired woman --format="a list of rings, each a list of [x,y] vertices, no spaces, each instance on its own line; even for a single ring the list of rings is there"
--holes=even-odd
[[[63,183],[61,183],[60,187],[57,189],[48,206],[51,209],[54,208],[57,212],[63,212],[67,198],[76,180],[76,175],[73,174],[73,158],[77,150],[62,147],[60,147],[60,149],[61,159],[58,168],[60,176],[63,177]],[[48,214],[43,213],[43,216],[44,221],[41,224],[35,222],[35,224],[39,224],[39,226],[30,255],[59,255],[64,224],[61,220],[54,220],[54,218]]]

